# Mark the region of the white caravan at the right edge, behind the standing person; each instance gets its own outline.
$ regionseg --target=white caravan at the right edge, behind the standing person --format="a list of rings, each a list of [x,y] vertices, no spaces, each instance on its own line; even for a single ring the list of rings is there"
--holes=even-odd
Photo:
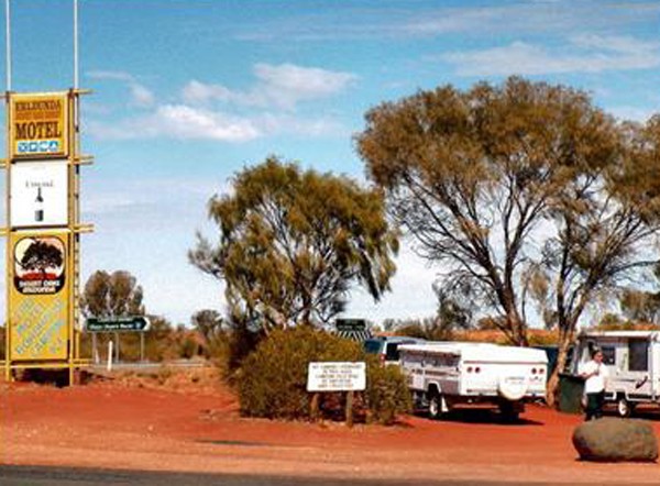
[[[603,352],[609,372],[605,400],[616,404],[619,416],[628,417],[638,404],[660,402],[659,331],[582,332],[573,347],[571,374],[580,373],[594,346]]]

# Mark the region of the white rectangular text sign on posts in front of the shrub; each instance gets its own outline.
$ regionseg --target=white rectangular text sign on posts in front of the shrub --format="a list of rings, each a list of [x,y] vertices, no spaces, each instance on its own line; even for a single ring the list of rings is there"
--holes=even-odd
[[[307,391],[361,391],[365,388],[364,362],[309,363]]]

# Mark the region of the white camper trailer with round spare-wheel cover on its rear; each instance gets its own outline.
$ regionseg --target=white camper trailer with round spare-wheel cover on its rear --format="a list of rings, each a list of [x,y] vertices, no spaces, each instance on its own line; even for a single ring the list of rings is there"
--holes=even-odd
[[[440,418],[454,407],[498,407],[515,420],[525,401],[546,398],[543,350],[490,343],[429,342],[399,346],[402,368],[418,406]]]

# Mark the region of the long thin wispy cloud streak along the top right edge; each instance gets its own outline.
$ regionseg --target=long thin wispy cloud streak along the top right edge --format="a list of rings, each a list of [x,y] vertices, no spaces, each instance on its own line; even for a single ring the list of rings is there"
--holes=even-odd
[[[256,42],[327,42],[364,38],[417,38],[460,34],[465,37],[493,37],[515,32],[519,35],[572,32],[634,31],[653,22],[660,14],[658,2],[601,0],[519,0],[477,2],[470,7],[447,7],[449,2],[363,2],[334,9],[332,15],[306,12],[282,15],[234,27],[234,38]],[[460,2],[454,2],[460,3]],[[468,3],[468,2],[463,2]],[[433,7],[438,5],[438,7]]]

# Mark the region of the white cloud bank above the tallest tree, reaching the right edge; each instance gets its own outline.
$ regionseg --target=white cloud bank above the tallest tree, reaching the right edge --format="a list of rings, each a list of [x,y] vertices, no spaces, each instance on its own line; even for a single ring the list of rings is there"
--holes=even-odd
[[[579,36],[571,40],[572,53],[514,42],[508,46],[446,54],[460,76],[543,75],[648,69],[660,66],[660,44],[632,37]]]

